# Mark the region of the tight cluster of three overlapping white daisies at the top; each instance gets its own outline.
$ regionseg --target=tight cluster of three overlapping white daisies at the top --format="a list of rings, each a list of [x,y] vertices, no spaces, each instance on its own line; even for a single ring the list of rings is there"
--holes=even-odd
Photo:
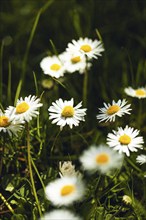
[[[42,59],[40,67],[44,74],[54,78],[63,77],[65,73],[79,72],[83,74],[86,68],[92,66],[91,60],[97,59],[104,51],[101,41],[89,38],[79,38],[68,43],[66,50]]]

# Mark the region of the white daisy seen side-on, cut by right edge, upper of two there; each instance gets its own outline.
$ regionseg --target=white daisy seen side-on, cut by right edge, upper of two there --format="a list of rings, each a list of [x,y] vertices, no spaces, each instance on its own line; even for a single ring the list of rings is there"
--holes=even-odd
[[[143,99],[146,98],[146,87],[139,87],[137,89],[133,89],[132,87],[125,88],[125,93],[129,96]]]

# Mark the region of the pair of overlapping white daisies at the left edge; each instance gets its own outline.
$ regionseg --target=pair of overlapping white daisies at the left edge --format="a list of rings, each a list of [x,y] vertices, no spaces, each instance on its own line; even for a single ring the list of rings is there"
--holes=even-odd
[[[0,109],[0,132],[18,136],[24,124],[39,114],[38,108],[42,105],[39,98],[29,95],[18,99],[16,106],[9,106],[4,111]]]

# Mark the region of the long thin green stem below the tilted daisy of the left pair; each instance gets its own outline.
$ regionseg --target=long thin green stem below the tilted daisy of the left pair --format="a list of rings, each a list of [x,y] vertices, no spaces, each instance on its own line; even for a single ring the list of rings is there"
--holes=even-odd
[[[35,184],[34,184],[34,179],[33,179],[33,174],[32,174],[32,166],[31,166],[31,153],[30,153],[30,133],[29,133],[29,126],[28,124],[26,124],[26,129],[27,129],[27,158],[28,158],[28,169],[29,169],[29,173],[30,173],[30,181],[31,181],[31,185],[32,185],[32,191],[36,200],[36,204],[38,207],[38,211],[39,211],[39,215],[40,217],[42,216],[42,211],[41,211],[41,207],[39,204],[39,200],[38,200],[38,196],[37,196],[37,192],[36,192],[36,188],[35,188]]]

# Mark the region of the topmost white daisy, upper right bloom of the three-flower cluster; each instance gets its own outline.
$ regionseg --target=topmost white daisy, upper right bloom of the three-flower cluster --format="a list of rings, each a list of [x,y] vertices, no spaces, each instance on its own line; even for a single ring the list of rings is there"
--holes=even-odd
[[[67,45],[68,52],[80,52],[81,55],[86,55],[88,59],[95,58],[101,56],[101,52],[104,51],[103,45],[101,41],[91,40],[89,38],[79,38],[79,40],[72,40],[72,43],[68,43]]]

